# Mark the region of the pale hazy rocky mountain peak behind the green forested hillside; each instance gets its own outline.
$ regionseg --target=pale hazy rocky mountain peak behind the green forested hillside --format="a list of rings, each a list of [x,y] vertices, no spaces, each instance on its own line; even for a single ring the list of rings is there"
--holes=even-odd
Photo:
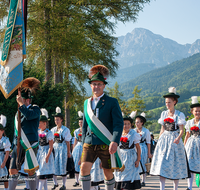
[[[116,49],[120,69],[144,63],[152,63],[158,68],[199,53],[200,40],[181,45],[147,29],[135,28],[131,33],[118,37]]]

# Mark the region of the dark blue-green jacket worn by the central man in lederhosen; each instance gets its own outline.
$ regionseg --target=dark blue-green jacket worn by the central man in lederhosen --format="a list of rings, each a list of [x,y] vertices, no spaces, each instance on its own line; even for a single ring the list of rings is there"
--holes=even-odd
[[[112,141],[119,144],[120,137],[122,135],[124,121],[122,118],[122,112],[119,107],[117,99],[104,95],[98,102],[94,114],[96,115],[96,109],[99,108],[98,118],[106,126],[106,128],[113,135]],[[98,138],[89,128],[85,119],[85,110],[83,116],[82,127],[82,142],[92,145],[105,144]]]

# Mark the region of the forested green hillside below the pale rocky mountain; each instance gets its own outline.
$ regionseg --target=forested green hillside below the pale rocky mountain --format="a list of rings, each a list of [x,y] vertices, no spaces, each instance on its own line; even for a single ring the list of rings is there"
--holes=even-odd
[[[166,93],[170,86],[174,86],[177,90],[187,89],[192,92],[191,95],[199,95],[199,73],[200,53],[197,53],[122,83],[120,91],[124,93],[124,98],[129,99],[133,96],[132,91],[136,85],[139,89],[142,88],[141,95],[143,97]]]

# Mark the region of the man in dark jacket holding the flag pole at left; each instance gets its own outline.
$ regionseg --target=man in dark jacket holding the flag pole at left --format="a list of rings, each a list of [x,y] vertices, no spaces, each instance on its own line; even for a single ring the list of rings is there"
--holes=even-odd
[[[35,163],[35,158],[36,158],[35,156],[37,153],[37,146],[38,146],[38,126],[39,126],[41,112],[38,106],[31,105],[32,98],[33,97],[31,95],[30,90],[23,91],[22,93],[18,91],[18,95],[16,97],[16,101],[20,106],[19,111],[21,112],[21,141],[20,141],[18,158],[17,158],[16,140],[14,141],[15,146],[12,152],[10,169],[9,169],[11,178],[11,180],[9,181],[9,190],[14,190],[16,188],[19,175],[18,171],[21,169],[21,165],[24,162],[25,166],[29,164],[33,165],[33,167],[30,170],[29,169],[25,170],[25,168],[24,170],[29,174],[30,190],[36,190],[35,169],[38,168],[38,164],[37,162]],[[17,125],[17,115],[15,116],[15,125]],[[15,126],[14,130],[16,129],[17,127]],[[15,135],[17,135],[17,132],[15,132]],[[25,155],[27,152],[29,153],[32,159],[25,159]],[[28,163],[26,163],[26,161]]]

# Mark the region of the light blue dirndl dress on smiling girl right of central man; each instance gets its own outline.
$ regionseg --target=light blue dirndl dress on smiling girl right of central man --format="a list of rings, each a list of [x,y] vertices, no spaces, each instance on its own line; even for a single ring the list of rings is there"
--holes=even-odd
[[[140,165],[136,168],[137,153],[135,144],[140,142],[140,135],[133,129],[120,139],[119,147],[125,169],[123,172],[115,171],[116,189],[140,189]]]

